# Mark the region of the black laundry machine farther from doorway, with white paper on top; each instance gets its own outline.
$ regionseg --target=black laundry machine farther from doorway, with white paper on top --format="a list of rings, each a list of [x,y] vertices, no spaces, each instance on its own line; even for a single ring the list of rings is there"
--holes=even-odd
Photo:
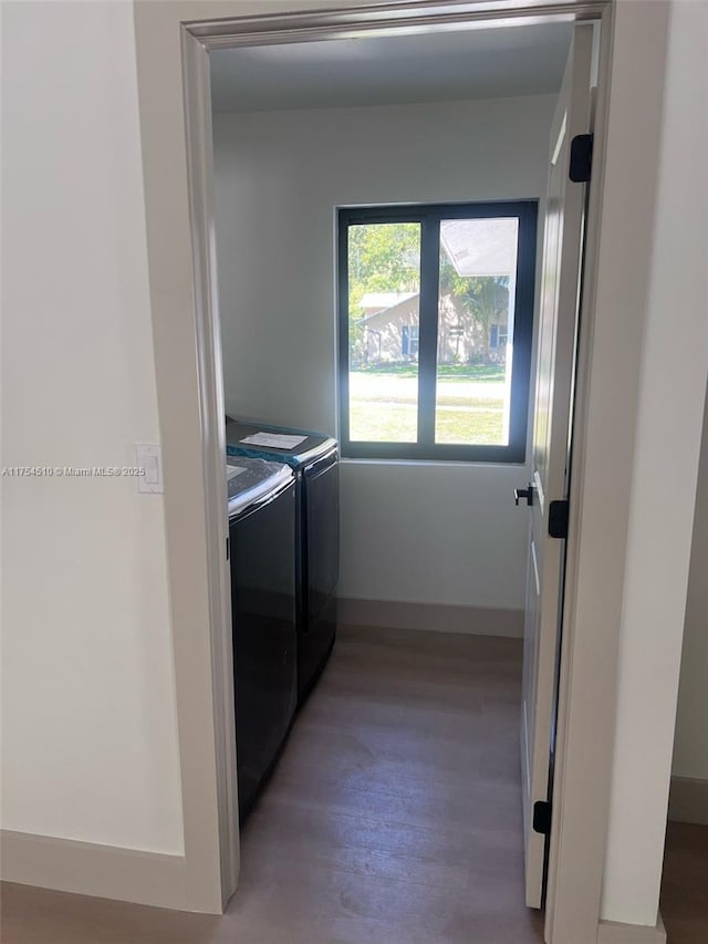
[[[227,455],[287,464],[298,505],[298,698],[302,704],[324,668],[336,634],[340,577],[340,470],[336,439],[321,433],[227,417]]]

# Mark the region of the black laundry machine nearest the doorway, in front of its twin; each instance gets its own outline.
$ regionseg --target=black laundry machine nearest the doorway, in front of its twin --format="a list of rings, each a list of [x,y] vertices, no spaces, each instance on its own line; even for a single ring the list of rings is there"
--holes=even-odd
[[[227,460],[239,818],[278,760],[298,702],[295,476]]]

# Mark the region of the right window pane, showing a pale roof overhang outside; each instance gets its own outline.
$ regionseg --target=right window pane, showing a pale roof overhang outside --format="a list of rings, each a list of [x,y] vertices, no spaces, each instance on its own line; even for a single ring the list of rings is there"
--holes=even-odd
[[[440,220],[435,442],[509,444],[517,218]]]

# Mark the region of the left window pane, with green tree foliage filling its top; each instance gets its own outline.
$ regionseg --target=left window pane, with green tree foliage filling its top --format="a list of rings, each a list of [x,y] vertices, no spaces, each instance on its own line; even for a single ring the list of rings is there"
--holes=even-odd
[[[418,438],[420,224],[348,227],[350,439]]]

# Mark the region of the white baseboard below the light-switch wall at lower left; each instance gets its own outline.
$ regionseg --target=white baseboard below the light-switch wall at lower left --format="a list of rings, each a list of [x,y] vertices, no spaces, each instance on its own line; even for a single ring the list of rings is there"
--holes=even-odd
[[[0,831],[2,881],[186,909],[185,859],[51,836]]]

